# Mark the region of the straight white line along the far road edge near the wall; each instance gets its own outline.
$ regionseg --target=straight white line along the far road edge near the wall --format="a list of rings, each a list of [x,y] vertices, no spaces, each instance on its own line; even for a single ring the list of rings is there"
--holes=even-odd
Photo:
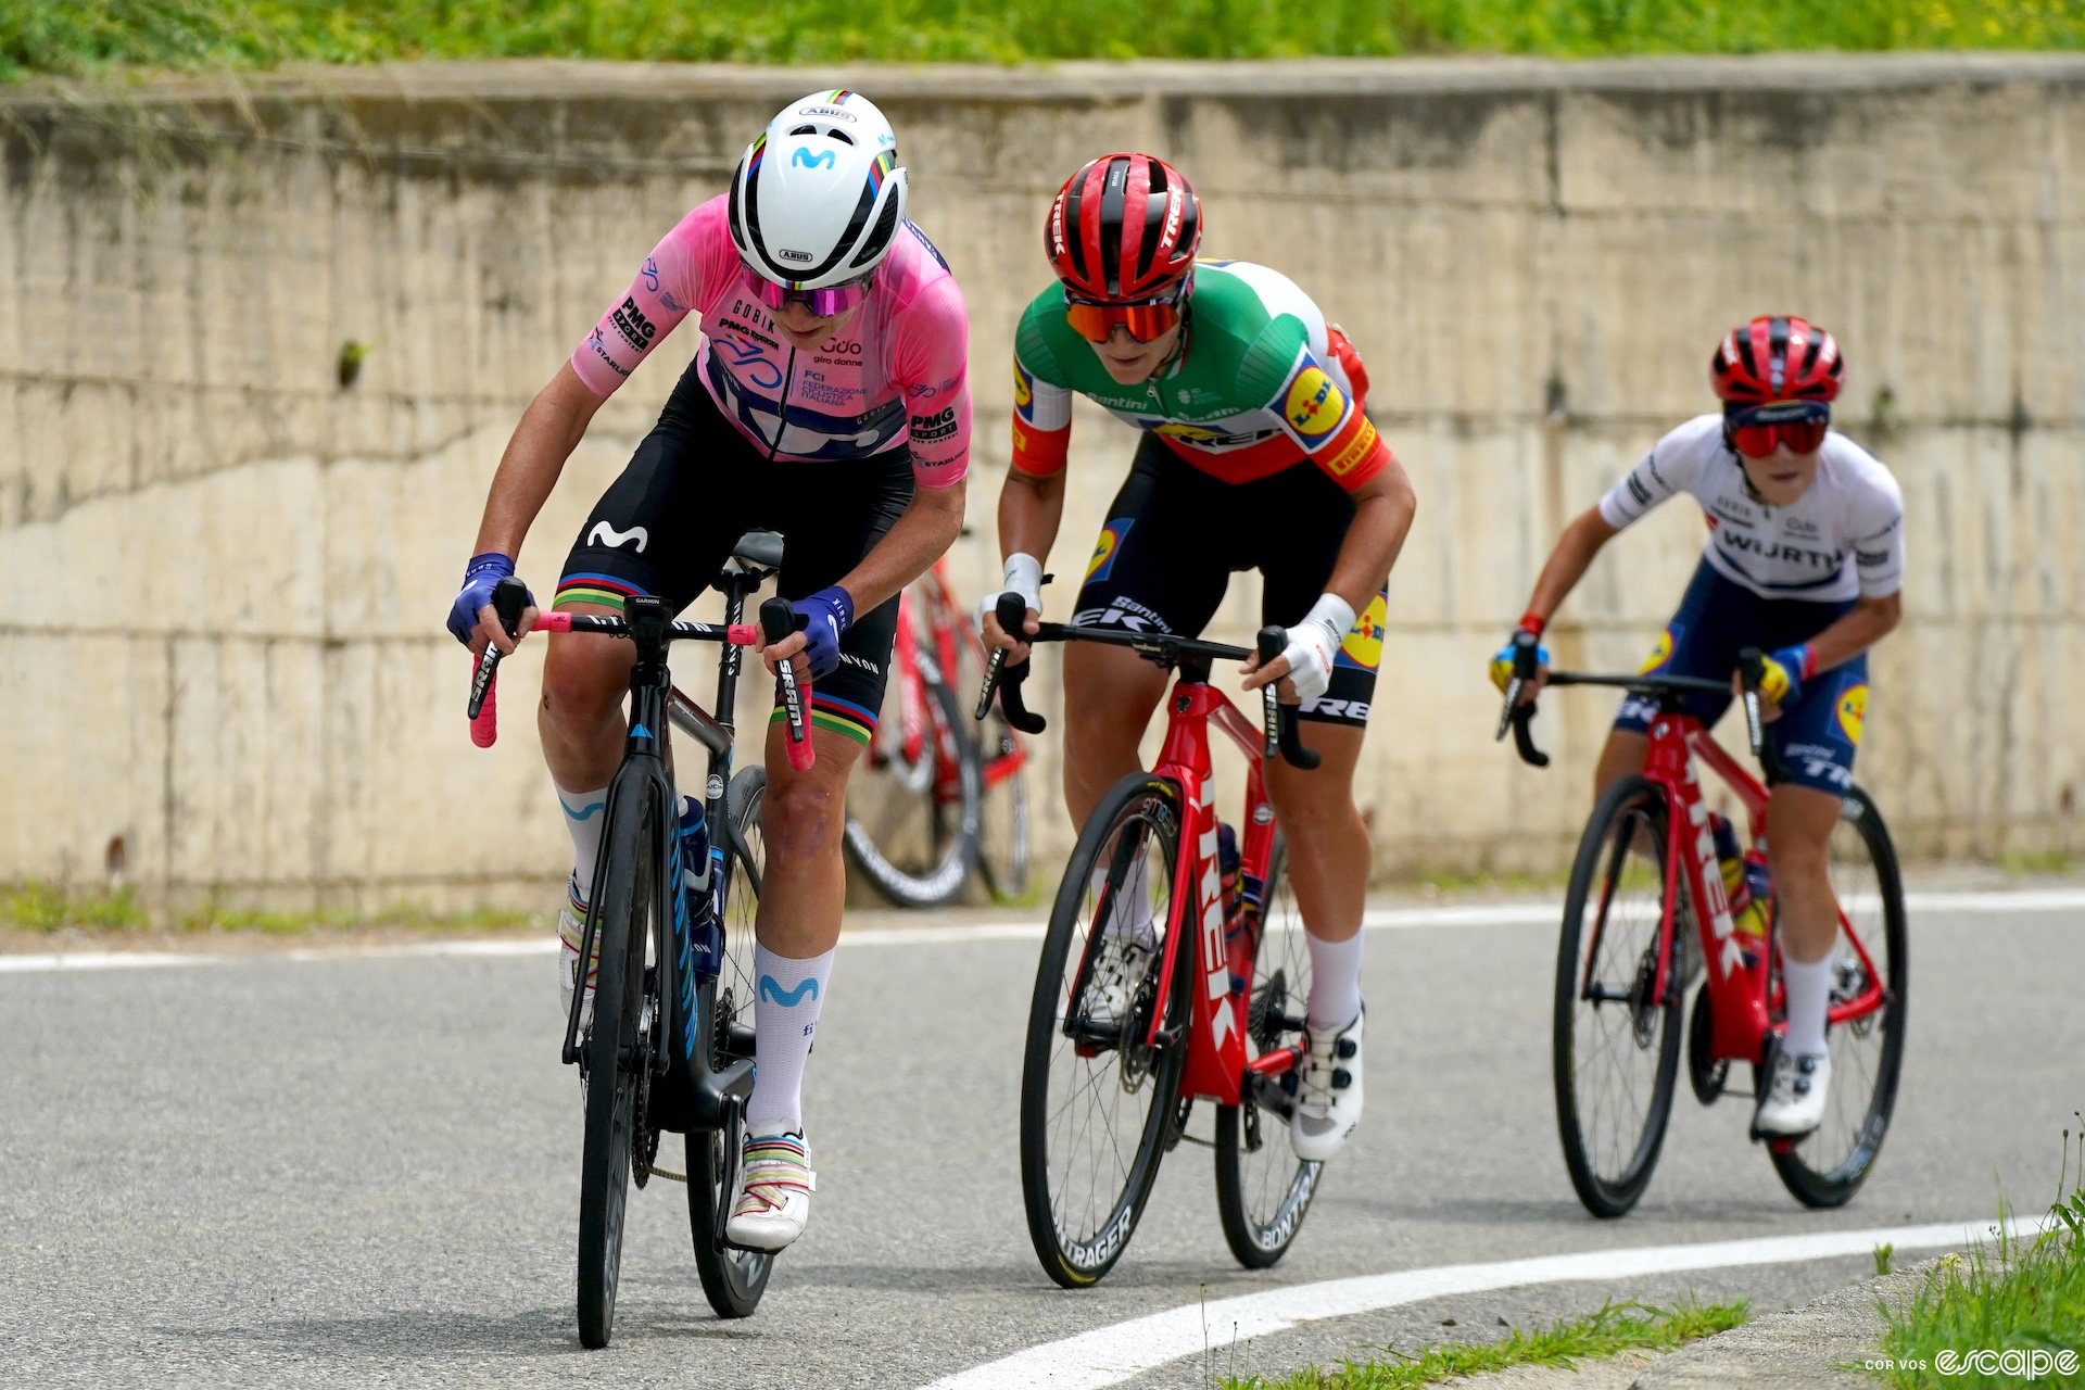
[[[2072,913],[2085,911],[2085,888],[2025,888],[1981,892],[1908,892],[1912,913]],[[1470,902],[1455,907],[1376,907],[1362,915],[1370,929],[1414,927],[1549,927],[1564,915],[1562,902]],[[840,932],[842,946],[940,946],[959,942],[1038,942],[1049,923],[974,921],[959,927],[855,927]],[[52,950],[0,954],[0,975],[42,971],[150,969],[169,965],[229,965],[238,961],[363,961],[373,957],[546,957],[557,952],[555,936],[411,942],[398,946],[302,946],[286,952],[225,950]]]

